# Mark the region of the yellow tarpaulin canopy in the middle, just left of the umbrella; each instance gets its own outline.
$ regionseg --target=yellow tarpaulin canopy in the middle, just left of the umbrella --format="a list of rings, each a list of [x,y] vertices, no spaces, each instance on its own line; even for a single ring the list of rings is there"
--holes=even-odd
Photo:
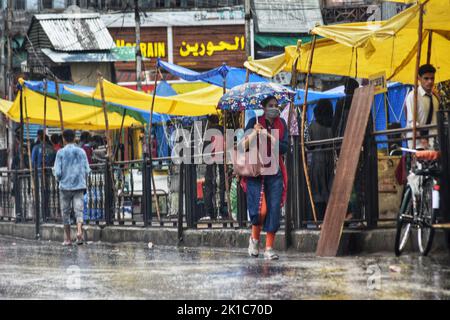
[[[152,95],[131,90],[103,80],[105,100],[109,103],[116,103],[135,110],[150,112]],[[97,84],[94,92],[66,88],[73,94],[101,100],[100,85]],[[218,113],[216,107],[219,99],[223,95],[223,89],[217,86],[208,86],[203,89],[172,97],[155,97],[154,112],[175,115],[175,116],[203,116]]]

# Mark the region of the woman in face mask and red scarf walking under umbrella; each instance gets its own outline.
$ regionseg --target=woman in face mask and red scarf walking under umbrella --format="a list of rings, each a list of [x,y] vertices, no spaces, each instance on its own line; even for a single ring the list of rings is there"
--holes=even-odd
[[[258,119],[249,120],[245,130],[251,133],[244,137],[244,148],[247,150],[255,145],[254,139],[257,139],[259,148],[261,139],[267,139],[267,156],[270,156],[274,152],[273,148],[278,144],[278,162],[276,163],[278,167],[275,168],[275,174],[243,177],[241,183],[247,193],[247,208],[252,223],[248,253],[250,256],[258,257],[260,234],[263,230],[266,232],[264,258],[276,260],[279,257],[273,249],[273,244],[275,233],[280,227],[281,208],[287,194],[287,173],[282,155],[287,152],[289,141],[286,122],[280,118],[278,100],[274,96],[269,96],[261,102],[261,105],[264,115]],[[278,130],[278,139],[271,130]],[[272,157],[271,161],[273,161]]]

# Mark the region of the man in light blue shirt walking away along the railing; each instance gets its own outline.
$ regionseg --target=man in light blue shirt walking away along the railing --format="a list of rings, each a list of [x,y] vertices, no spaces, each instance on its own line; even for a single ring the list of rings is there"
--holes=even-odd
[[[90,172],[86,153],[76,146],[73,130],[63,132],[64,148],[56,154],[53,172],[59,182],[60,205],[64,224],[63,245],[71,245],[70,213],[73,209],[77,223],[77,244],[83,243],[83,197]]]

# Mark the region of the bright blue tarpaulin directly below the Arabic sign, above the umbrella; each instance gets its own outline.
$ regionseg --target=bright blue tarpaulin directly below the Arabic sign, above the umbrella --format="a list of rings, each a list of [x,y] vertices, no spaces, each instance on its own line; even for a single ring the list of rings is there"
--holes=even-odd
[[[197,72],[162,60],[158,60],[158,67],[183,80],[203,81],[218,87],[223,87],[225,79],[227,89],[244,84],[247,74],[245,69],[229,67],[226,64],[205,72]],[[268,80],[252,73],[249,75],[249,82],[268,82]]]

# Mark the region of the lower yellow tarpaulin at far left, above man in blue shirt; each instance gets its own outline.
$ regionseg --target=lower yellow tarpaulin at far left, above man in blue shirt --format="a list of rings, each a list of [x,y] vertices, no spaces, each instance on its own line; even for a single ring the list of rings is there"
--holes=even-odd
[[[23,119],[32,124],[44,124],[44,95],[23,86]],[[103,109],[84,104],[62,101],[64,127],[70,129],[105,130],[105,116]],[[20,94],[14,103],[2,100],[0,111],[13,121],[20,122]],[[115,112],[108,112],[110,129],[119,129],[122,116]],[[47,97],[47,126],[59,127],[59,111],[56,99]],[[125,117],[124,127],[142,126],[131,117]]]

